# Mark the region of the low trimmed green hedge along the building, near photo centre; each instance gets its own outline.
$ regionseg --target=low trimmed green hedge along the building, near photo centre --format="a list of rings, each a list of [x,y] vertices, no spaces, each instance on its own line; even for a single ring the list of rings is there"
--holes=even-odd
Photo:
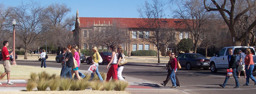
[[[157,52],[154,50],[138,50],[132,51],[131,56],[157,56]]]

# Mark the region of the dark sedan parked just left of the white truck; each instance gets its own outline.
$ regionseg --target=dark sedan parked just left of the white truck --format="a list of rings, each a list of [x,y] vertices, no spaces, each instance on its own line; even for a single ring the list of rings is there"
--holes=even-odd
[[[195,68],[203,68],[204,70],[209,69],[210,60],[205,58],[201,54],[196,53],[184,53],[179,55],[178,57],[179,63],[182,67],[186,67],[186,69]]]

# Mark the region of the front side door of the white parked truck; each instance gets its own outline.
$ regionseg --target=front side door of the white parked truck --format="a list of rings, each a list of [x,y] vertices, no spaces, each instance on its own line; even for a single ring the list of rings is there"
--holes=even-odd
[[[218,67],[218,68],[221,68],[221,67],[223,67],[223,63],[224,63],[224,55],[225,55],[225,52],[226,52],[226,48],[223,48],[220,52],[219,52],[219,54],[218,54],[218,56],[215,58],[216,60],[216,62],[215,62],[215,64],[216,64],[216,67]]]

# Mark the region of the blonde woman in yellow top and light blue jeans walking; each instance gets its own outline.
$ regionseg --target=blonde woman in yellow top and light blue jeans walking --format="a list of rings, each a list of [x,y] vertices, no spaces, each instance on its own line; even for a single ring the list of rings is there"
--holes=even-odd
[[[98,49],[97,49],[97,47],[96,46],[93,46],[93,48],[92,48],[92,50],[93,50],[93,55],[92,55],[92,59],[93,59],[93,64],[96,64],[96,70],[95,70],[95,73],[96,73],[96,75],[99,77],[99,80],[101,81],[101,82],[103,82],[103,78],[101,77],[101,75],[99,74],[99,68],[98,68],[98,66],[99,66],[99,60],[100,60],[100,55],[99,55],[99,52],[98,52]],[[91,79],[93,79],[93,77],[94,77],[94,74],[92,73],[91,74]]]

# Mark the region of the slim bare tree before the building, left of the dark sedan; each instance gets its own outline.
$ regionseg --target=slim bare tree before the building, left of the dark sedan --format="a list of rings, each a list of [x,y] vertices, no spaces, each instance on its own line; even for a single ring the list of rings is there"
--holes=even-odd
[[[145,37],[144,40],[151,42],[157,46],[157,53],[158,53],[158,63],[160,63],[160,49],[161,49],[161,40],[163,39],[162,36],[162,28],[165,27],[165,14],[164,10],[165,4],[162,1],[153,0],[153,4],[149,4],[145,2],[144,5],[138,7],[138,12],[140,17],[146,22],[145,26],[141,26],[141,28],[149,27],[153,34],[149,37]]]

